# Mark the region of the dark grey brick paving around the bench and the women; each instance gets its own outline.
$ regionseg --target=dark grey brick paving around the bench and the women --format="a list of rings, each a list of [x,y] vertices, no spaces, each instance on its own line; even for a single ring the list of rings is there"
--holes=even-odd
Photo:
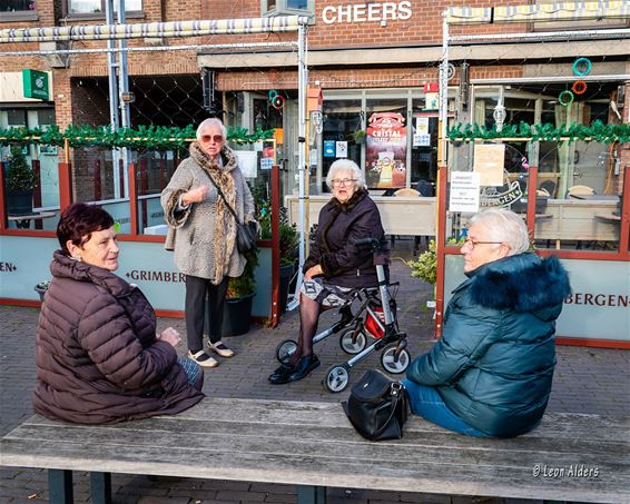
[[[408,258],[404,250],[398,254]],[[394,254],[396,256],[396,254]],[[394,260],[393,279],[402,283],[398,299],[401,328],[408,334],[408,349],[413,355],[426,352],[432,345],[431,313],[423,306],[432,294],[431,286],[412,279],[408,268]],[[0,306],[0,434],[3,435],[32,415],[31,392],[35,386],[35,332],[39,310]],[[325,314],[333,320],[332,313]],[[291,313],[283,317],[276,329],[253,327],[245,336],[228,338],[227,343],[237,352],[233,359],[222,359],[220,366],[206,373],[204,392],[213,397],[278,398],[287,401],[345,399],[346,394],[329,394],[321,381],[333,364],[344,362],[338,348],[338,338],[331,337],[316,346],[322,367],[302,382],[272,386],[267,375],[276,367],[275,346],[297,334],[297,316]],[[160,328],[175,326],[185,334],[184,322],[163,318]],[[180,349],[184,352],[184,349]],[[364,369],[378,365],[378,356],[372,355],[353,369],[352,378]],[[630,414],[630,352],[559,347],[558,367],[548,411],[573,413],[599,413],[610,415]],[[47,475],[43,471],[0,470],[0,503],[47,502]],[[256,483],[209,482],[188,478],[148,478],[146,476],[114,475],[115,503],[187,504],[187,503],[292,503],[295,488],[286,485]],[[75,485],[77,502],[89,502],[86,475],[78,475]],[[421,495],[394,492],[364,492],[361,490],[331,490],[328,502],[337,503],[444,503],[505,502],[484,497]],[[510,500],[510,503],[516,501]],[[532,502],[532,501],[528,501]]]

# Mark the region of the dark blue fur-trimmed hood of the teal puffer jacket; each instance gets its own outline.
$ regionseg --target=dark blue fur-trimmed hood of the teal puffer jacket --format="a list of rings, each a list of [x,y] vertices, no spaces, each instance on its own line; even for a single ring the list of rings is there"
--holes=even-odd
[[[519,313],[541,312],[542,318],[553,316],[544,312],[562,307],[571,293],[569,275],[554,256],[519,254],[480,266],[467,276],[469,280],[456,290],[470,286],[474,304]]]

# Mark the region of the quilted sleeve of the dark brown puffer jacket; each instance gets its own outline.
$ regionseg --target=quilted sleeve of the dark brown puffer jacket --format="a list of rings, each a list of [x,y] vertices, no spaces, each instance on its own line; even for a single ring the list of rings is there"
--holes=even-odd
[[[125,389],[158,383],[177,359],[168,343],[156,340],[144,348],[135,330],[116,299],[101,295],[86,306],[77,334],[98,369]]]

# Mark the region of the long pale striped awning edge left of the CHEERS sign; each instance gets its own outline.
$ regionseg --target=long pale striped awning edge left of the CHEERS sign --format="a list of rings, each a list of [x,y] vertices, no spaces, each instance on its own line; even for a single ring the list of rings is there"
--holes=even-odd
[[[306,22],[307,18],[304,17],[276,16],[269,18],[144,22],[137,24],[9,28],[0,30],[0,43],[198,37],[207,34],[247,34],[297,31],[299,24],[306,24]]]

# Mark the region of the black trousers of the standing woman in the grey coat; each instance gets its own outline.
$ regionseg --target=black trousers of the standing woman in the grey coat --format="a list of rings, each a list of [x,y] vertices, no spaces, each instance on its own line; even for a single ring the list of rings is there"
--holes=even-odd
[[[226,294],[227,277],[219,285],[213,285],[206,278],[186,275],[186,337],[190,352],[195,353],[204,348],[204,322],[206,314],[210,318],[210,342],[217,343],[220,340],[223,307]]]

